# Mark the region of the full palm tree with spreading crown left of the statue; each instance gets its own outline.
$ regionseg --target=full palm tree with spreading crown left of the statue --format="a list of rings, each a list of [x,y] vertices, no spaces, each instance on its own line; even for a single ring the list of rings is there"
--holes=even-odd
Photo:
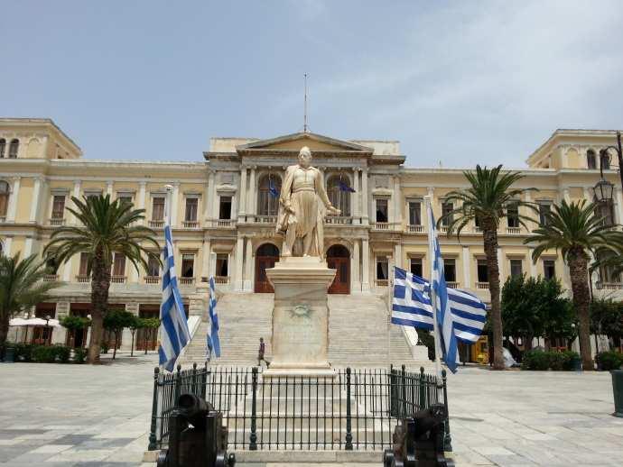
[[[88,343],[88,362],[99,362],[103,319],[108,307],[110,270],[113,254],[123,254],[136,268],[147,270],[145,256],[157,258],[148,248],[159,249],[155,232],[136,225],[144,219],[144,209],[134,209],[130,203],[110,196],[86,197],[84,201],[71,197],[75,215],[81,225],[68,225],[55,230],[44,252],[55,257],[57,264],[69,261],[76,254],[87,253],[87,271],[91,275],[91,338]]]

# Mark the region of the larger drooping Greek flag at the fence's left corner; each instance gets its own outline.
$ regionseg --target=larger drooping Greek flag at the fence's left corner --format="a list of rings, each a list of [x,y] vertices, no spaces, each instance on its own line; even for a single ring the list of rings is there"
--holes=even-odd
[[[161,342],[158,349],[160,365],[167,371],[173,371],[181,349],[191,340],[177,285],[173,252],[171,225],[167,220],[164,226],[163,302],[160,306]]]

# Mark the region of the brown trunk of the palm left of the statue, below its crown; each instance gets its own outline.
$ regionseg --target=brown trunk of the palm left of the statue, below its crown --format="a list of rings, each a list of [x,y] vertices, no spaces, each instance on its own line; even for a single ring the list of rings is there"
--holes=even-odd
[[[110,269],[107,267],[103,252],[98,251],[93,258],[91,277],[91,304],[93,308],[91,310],[91,338],[88,343],[88,362],[91,364],[99,363],[109,288]]]

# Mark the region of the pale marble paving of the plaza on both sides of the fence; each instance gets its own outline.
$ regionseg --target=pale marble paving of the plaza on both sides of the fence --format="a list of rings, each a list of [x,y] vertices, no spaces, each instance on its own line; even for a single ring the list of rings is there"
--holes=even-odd
[[[141,465],[154,357],[99,367],[0,363],[0,466]],[[609,373],[461,368],[449,390],[460,466],[623,465]]]

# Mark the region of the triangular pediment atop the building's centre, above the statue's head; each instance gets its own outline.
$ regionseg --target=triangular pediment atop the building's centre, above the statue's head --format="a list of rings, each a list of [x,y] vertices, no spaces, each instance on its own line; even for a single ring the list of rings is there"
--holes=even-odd
[[[372,154],[373,151],[371,148],[367,148],[366,146],[362,146],[354,142],[336,140],[334,138],[322,136],[321,134],[316,133],[287,134],[277,138],[242,144],[237,146],[236,150],[238,152],[291,152],[300,151],[303,146],[309,147],[312,152],[325,153],[358,152],[365,155]]]

